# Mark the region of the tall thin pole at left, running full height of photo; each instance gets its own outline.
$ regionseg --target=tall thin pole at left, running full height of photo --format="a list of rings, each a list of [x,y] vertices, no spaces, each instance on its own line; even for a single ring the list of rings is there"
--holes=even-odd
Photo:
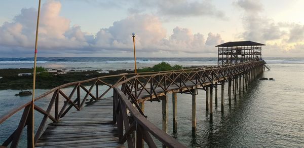
[[[35,39],[35,52],[34,52],[34,71],[33,71],[33,94],[32,94],[32,147],[35,147],[34,138],[34,98],[35,98],[35,81],[36,81],[36,60],[37,60],[37,42],[38,42],[38,29],[39,29],[39,18],[40,18],[40,6],[41,0],[39,0],[38,14],[37,14],[37,25],[36,25],[36,39]]]

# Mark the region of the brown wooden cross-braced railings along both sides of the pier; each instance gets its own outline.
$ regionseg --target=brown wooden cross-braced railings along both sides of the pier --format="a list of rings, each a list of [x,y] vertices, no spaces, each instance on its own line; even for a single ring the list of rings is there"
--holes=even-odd
[[[94,100],[99,100],[113,89],[113,124],[118,123],[119,142],[125,142],[127,140],[129,147],[134,147],[135,144],[130,140],[130,134],[135,130],[137,131],[138,138],[145,140],[151,147],[154,147],[155,143],[151,140],[149,133],[159,139],[164,145],[169,147],[181,146],[174,138],[164,134],[164,132],[156,128],[155,125],[147,121],[137,102],[142,98],[145,98],[146,100],[149,99],[150,101],[154,99],[160,101],[160,92],[166,93],[170,90],[171,86],[174,86],[174,89],[178,91],[187,93],[191,92],[191,88],[189,88],[186,83],[191,83],[193,86],[201,86],[204,88],[207,83],[212,84],[213,82],[225,81],[227,79],[231,80],[234,79],[235,76],[263,64],[265,64],[265,62],[261,60],[175,71],[145,72],[137,74],[129,73],[125,75],[98,77],[58,86],[34,99],[36,102],[40,99],[47,98],[48,95],[52,94],[52,98],[46,109],[43,109],[36,104],[34,105],[34,110],[43,115],[43,119],[35,132],[34,141],[36,142],[41,136],[48,119],[52,122],[59,122],[71,108],[81,110],[84,106],[84,102],[89,96]],[[87,85],[90,86],[89,89],[85,87]],[[106,85],[109,88],[102,92],[102,94],[99,94],[99,85]],[[69,94],[62,91],[62,89],[67,87],[73,87]],[[96,89],[95,94],[92,92],[94,87]],[[121,90],[119,87],[121,87]],[[157,91],[157,88],[161,88],[161,91]],[[81,97],[83,91],[85,92],[85,95],[84,97]],[[74,95],[75,92],[76,95]],[[141,95],[143,92],[146,92],[148,95]],[[64,101],[61,107],[59,107],[59,101]],[[133,107],[132,104],[135,104],[135,107]],[[21,133],[26,127],[28,135],[27,146],[31,147],[32,136],[30,135],[32,128],[34,128],[31,126],[31,115],[33,112],[33,110],[31,110],[31,105],[31,101],[29,101],[0,117],[0,124],[2,124],[23,109],[23,114],[18,127],[7,140],[4,141],[2,144],[3,146],[8,146],[11,143],[11,147],[17,147]],[[53,107],[55,107],[54,113],[51,112]],[[130,116],[127,115],[127,110],[129,110]],[[123,125],[125,125],[125,134],[123,134]],[[142,140],[137,141],[140,142]]]

